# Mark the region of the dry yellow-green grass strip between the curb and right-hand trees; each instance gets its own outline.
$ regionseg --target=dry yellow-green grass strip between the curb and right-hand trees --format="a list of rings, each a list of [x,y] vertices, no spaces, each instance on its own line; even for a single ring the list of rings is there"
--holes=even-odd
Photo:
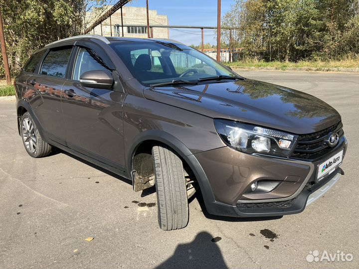
[[[287,70],[292,68],[301,68],[305,70],[326,70],[340,71],[342,68],[359,68],[359,59],[347,59],[342,61],[299,61],[299,62],[264,62],[258,60],[242,60],[227,63],[232,68],[268,68]]]

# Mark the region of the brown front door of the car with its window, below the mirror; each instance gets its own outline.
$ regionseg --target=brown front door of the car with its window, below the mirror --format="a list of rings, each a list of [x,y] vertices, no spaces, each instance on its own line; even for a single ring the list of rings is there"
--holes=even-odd
[[[123,109],[125,94],[80,84],[87,71],[107,70],[84,47],[76,53],[74,68],[62,88],[62,111],[67,145],[116,168],[125,166]]]

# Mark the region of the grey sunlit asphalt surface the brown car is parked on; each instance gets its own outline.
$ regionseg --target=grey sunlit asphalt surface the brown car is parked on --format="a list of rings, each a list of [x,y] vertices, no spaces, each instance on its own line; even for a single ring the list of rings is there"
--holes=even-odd
[[[205,216],[194,199],[188,226],[164,232],[156,206],[133,202],[156,202],[155,193],[133,192],[129,181],[64,152],[28,156],[14,101],[0,101],[0,268],[359,268],[359,75],[238,72],[303,90],[341,113],[346,175],[325,197],[279,219]],[[315,250],[353,261],[307,262]]]

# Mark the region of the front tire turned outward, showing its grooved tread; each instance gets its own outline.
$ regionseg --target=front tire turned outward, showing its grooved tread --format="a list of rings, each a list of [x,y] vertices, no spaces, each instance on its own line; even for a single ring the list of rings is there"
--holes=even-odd
[[[154,146],[152,157],[159,225],[164,231],[184,228],[188,223],[188,199],[182,161],[166,145]]]

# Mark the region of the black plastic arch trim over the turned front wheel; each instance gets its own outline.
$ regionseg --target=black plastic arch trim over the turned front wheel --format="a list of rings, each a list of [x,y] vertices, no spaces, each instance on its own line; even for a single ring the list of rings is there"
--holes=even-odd
[[[173,148],[179,156],[189,165],[192,169],[201,190],[205,207],[208,213],[217,214],[215,208],[215,198],[212,188],[209,184],[208,178],[203,171],[202,166],[199,164],[197,158],[190,152],[190,150],[174,135],[166,133],[161,130],[149,130],[138,134],[132,141],[132,146],[126,153],[126,167],[128,178],[133,181],[132,177],[132,165],[133,158],[138,146],[146,140],[157,140],[171,148]]]

